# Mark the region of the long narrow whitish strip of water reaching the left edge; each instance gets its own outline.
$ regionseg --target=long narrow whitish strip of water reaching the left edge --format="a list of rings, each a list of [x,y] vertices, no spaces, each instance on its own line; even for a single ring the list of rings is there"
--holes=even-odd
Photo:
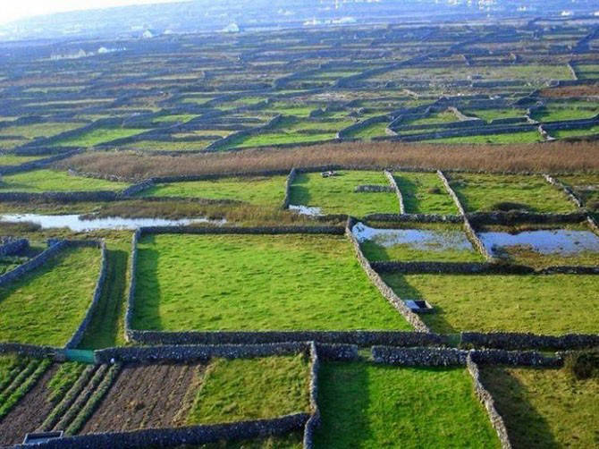
[[[110,216],[106,218],[83,219],[77,215],[43,216],[38,214],[8,214],[0,216],[5,222],[31,222],[46,228],[67,227],[75,232],[94,231],[97,229],[137,229],[142,226],[182,226],[195,223],[224,224],[224,220],[215,221],[207,218],[184,218],[167,220],[163,218],[123,218]]]

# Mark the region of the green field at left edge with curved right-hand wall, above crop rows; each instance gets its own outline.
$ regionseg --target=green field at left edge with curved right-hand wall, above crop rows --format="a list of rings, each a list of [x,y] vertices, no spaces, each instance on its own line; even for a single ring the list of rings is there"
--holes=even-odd
[[[89,307],[100,269],[95,248],[64,250],[0,290],[0,340],[62,346]]]

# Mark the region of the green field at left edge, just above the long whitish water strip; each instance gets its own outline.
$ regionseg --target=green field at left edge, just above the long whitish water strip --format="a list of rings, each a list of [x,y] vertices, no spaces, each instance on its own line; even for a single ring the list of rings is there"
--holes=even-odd
[[[58,170],[34,170],[2,177],[0,191],[118,191],[126,188],[124,182],[73,176]]]

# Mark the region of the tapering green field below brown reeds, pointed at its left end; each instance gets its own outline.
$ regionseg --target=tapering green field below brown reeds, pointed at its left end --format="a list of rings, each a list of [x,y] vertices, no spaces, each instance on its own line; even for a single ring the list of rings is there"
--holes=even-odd
[[[285,197],[286,176],[221,178],[213,181],[158,184],[144,197],[236,199],[258,206],[279,208]]]

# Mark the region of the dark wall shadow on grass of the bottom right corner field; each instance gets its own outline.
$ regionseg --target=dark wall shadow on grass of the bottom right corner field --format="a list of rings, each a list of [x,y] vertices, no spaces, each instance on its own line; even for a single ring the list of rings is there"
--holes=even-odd
[[[557,449],[549,424],[527,401],[527,387],[506,369],[481,369],[485,388],[505,422],[514,447]]]

